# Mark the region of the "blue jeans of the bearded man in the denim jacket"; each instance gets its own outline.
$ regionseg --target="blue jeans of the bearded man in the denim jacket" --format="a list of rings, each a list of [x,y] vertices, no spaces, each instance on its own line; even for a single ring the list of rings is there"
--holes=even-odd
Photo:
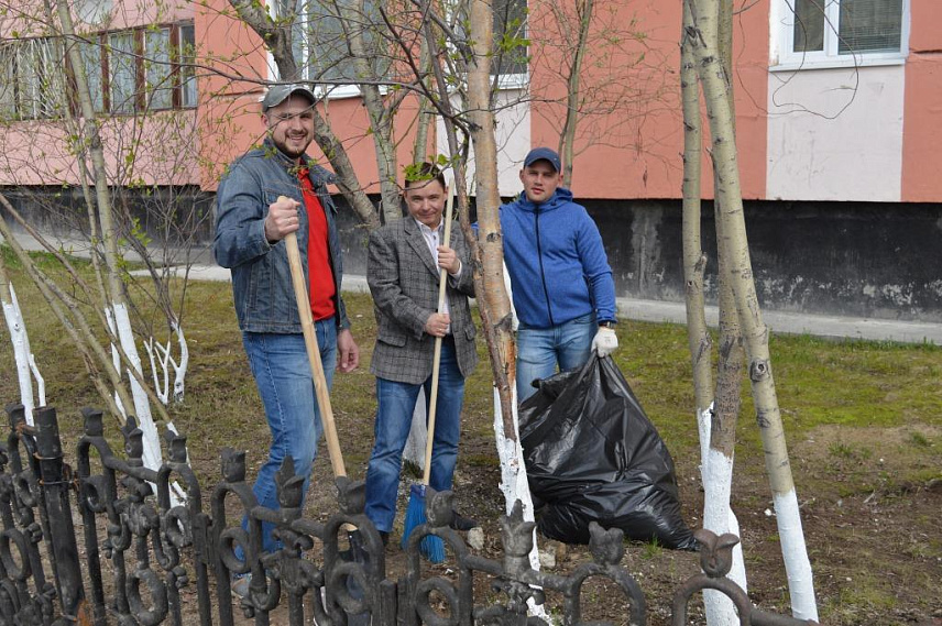
[[[333,382],[337,366],[337,322],[333,318],[315,323],[317,345],[327,386]],[[259,470],[252,487],[259,504],[281,508],[275,488],[275,472],[288,454],[295,463],[295,474],[304,476],[304,492],[310,484],[310,470],[317,455],[317,442],[324,432],[320,411],[310,376],[310,363],[303,334],[243,332],[242,345],[249,356],[249,366],[255,377],[259,395],[265,407],[265,417],[272,431],[269,460]],[[243,528],[249,520],[242,520]],[[272,538],[271,523],[262,524],[262,549],[274,552],[281,546]],[[241,553],[237,552],[241,557]]]

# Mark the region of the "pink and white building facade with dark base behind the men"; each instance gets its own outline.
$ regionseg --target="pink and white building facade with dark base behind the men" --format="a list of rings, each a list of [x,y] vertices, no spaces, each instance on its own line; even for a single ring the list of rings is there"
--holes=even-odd
[[[507,3],[522,11],[527,1]],[[528,59],[501,80],[499,169],[505,197],[521,190],[517,172],[526,152],[559,141],[566,94],[560,67],[569,53],[557,4],[528,1]],[[141,138],[162,138],[139,151],[138,179],[190,185],[211,196],[224,165],[263,136],[258,102],[264,84],[276,78],[271,58],[224,0],[180,2],[160,14],[143,2],[136,7],[113,9],[106,29],[86,26],[102,44],[95,57],[101,92],[96,106],[107,119],[116,180],[122,163],[116,145],[130,127]],[[600,0],[583,65],[587,97],[572,190],[602,226],[620,295],[627,297],[683,296],[680,13],[680,0]],[[0,54],[15,57],[22,34],[11,36],[9,23],[0,29]],[[942,140],[942,4],[758,0],[736,13],[734,29],[743,196],[766,306],[942,321],[942,277],[933,272],[942,266],[933,243],[942,234],[942,176],[934,158]],[[123,67],[103,45],[131,46],[146,58],[162,37],[169,62],[191,58],[196,69],[169,63],[164,76],[140,61]],[[0,108],[9,114],[10,102],[25,102],[19,91],[8,95],[9,85],[26,89],[29,80],[11,76],[10,64],[4,67],[8,89]],[[135,114],[153,101],[162,102],[158,113]],[[357,89],[335,89],[322,111],[361,184],[377,193],[373,142]],[[39,152],[42,166],[8,167],[0,185],[76,184],[68,155],[57,147],[63,131],[41,112],[24,112],[4,129],[7,161],[35,162]],[[396,117],[399,164],[410,160],[416,113],[416,100],[407,98]],[[165,118],[182,121],[171,133],[165,120],[160,123]],[[435,151],[446,152],[442,129],[432,135]],[[178,163],[162,168],[167,152]],[[712,194],[709,178],[705,198]],[[708,215],[704,232],[710,226]],[[709,240],[708,234],[712,259]],[[358,242],[362,238],[351,235],[354,259]],[[708,290],[714,286],[708,278]]]

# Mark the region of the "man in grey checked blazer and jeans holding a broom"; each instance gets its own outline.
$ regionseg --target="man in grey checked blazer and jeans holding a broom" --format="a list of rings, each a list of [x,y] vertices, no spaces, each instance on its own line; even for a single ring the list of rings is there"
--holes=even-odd
[[[416,398],[423,387],[425,397],[430,395],[435,338],[442,338],[430,479],[437,491],[451,488],[464,378],[478,363],[468,305],[474,284],[461,229],[454,224],[451,241],[441,241],[445,177],[435,165],[423,163],[412,178],[404,193],[409,215],[373,232],[366,265],[377,326],[370,371],[376,375],[379,403],[376,441],[366,470],[366,515],[384,541],[396,515]],[[437,312],[442,267],[448,272],[446,307]]]

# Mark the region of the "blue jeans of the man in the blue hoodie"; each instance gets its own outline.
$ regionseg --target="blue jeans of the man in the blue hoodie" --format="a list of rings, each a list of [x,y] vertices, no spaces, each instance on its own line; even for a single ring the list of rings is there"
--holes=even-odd
[[[595,314],[588,314],[551,328],[517,329],[517,402],[536,393],[533,382],[576,370],[589,361],[592,339],[599,331]]]

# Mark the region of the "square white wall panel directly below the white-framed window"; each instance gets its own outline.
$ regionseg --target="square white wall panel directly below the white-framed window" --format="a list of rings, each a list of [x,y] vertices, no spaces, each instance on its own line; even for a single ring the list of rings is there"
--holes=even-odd
[[[901,65],[769,73],[768,198],[900,200]]]

